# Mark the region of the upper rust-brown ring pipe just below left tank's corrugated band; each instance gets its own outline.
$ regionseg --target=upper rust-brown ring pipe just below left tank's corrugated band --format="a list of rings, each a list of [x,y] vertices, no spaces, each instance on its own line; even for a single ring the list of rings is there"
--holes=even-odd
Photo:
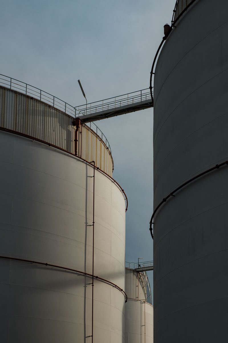
[[[58,149],[62,152],[65,152],[67,154],[69,154],[70,156],[73,156],[74,158],[78,158],[79,160],[85,162],[85,163],[88,163],[90,166],[93,166],[89,161],[86,161],[86,159],[80,157],[80,156],[76,156],[75,154],[59,147],[59,146],[56,146],[54,144],[51,144],[51,143],[48,143],[48,142],[45,142],[39,138],[36,138],[36,137],[32,137],[32,136],[29,136],[27,134],[24,134],[24,133],[21,133],[21,132],[18,132],[18,131],[14,131],[14,130],[11,130],[11,129],[7,129],[7,128],[4,128],[4,127],[0,127],[0,130],[3,131],[3,132],[8,132],[8,133],[12,133],[12,134],[16,134],[18,136],[21,136],[23,138],[27,138],[27,139],[31,139],[32,141],[36,141],[36,142],[39,142],[39,143],[43,143],[45,145],[48,145],[48,146],[51,146],[51,147],[54,147],[55,149]],[[120,184],[115,180],[113,179],[110,175],[108,175],[105,171],[101,170],[99,167],[96,167],[95,168],[102,174],[104,174],[106,177],[108,177],[110,180],[112,180],[113,183],[115,183],[117,185],[117,187],[121,190],[122,194],[123,194],[123,197],[124,197],[124,200],[126,201],[126,209],[125,211],[128,210],[128,198],[126,196],[126,193],[124,192],[123,188],[120,186]]]

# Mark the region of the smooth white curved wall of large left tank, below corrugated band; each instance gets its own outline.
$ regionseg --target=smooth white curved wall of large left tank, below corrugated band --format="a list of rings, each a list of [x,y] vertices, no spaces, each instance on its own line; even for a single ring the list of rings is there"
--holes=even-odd
[[[92,273],[93,167],[0,132],[0,255]],[[125,201],[95,170],[94,275],[124,288]],[[2,343],[91,342],[91,277],[0,258]],[[124,295],[94,279],[93,342],[124,341]]]

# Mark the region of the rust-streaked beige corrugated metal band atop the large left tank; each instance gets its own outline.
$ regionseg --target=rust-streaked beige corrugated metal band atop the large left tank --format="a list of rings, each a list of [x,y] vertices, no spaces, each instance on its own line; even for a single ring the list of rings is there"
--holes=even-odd
[[[0,87],[0,126],[75,153],[73,118],[40,100]],[[105,142],[88,126],[78,133],[79,156],[112,176],[113,160]]]

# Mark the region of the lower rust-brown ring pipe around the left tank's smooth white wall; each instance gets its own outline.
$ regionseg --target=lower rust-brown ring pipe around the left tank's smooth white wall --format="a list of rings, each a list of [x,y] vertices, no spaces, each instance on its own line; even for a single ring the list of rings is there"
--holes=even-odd
[[[28,263],[31,263],[31,264],[41,264],[41,265],[46,265],[46,266],[49,266],[49,267],[54,267],[54,268],[58,268],[58,269],[65,270],[65,271],[74,272],[76,274],[77,273],[83,274],[84,276],[95,277],[95,279],[103,281],[105,283],[108,283],[108,284],[112,285],[113,287],[117,288],[125,296],[125,298],[126,298],[125,303],[128,300],[128,296],[126,295],[126,293],[124,292],[124,290],[121,287],[119,287],[115,283],[113,283],[113,282],[111,282],[109,280],[106,280],[103,277],[100,277],[100,276],[97,276],[97,275],[92,275],[90,273],[82,272],[80,270],[76,270],[76,269],[68,268],[68,267],[63,267],[63,266],[60,266],[60,265],[51,264],[51,263],[47,263],[47,262],[39,262],[39,261],[27,260],[27,259],[22,259],[22,258],[17,258],[17,257],[9,257],[9,256],[0,256],[0,258],[6,259],[6,260],[15,260],[15,261],[28,262]]]

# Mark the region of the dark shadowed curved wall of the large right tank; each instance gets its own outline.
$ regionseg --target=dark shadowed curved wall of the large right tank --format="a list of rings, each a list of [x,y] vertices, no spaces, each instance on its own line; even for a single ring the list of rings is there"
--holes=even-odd
[[[155,70],[154,208],[228,159],[228,2],[198,0]],[[227,166],[164,203],[154,224],[155,343],[228,341]]]

